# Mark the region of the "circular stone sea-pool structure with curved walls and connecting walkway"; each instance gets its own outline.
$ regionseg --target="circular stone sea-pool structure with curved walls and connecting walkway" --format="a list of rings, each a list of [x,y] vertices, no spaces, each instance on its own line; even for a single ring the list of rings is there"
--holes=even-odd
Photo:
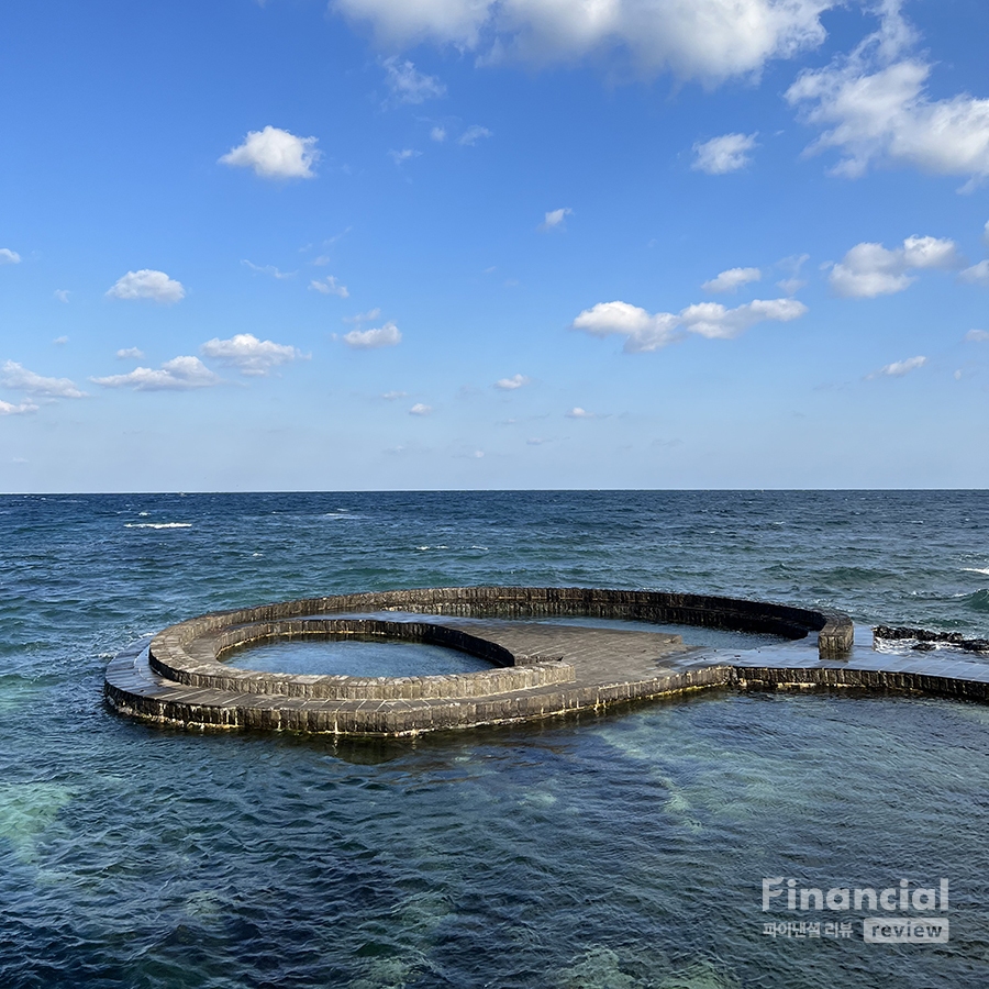
[[[405,620],[377,616],[388,612]],[[375,616],[362,616],[368,613]],[[568,625],[567,618],[769,633],[780,644],[697,647],[659,630]],[[341,638],[438,645],[491,668],[358,677],[254,671],[222,662],[252,644]],[[309,598],[180,622],[112,660],[104,694],[123,714],[187,727],[414,735],[711,687],[859,687],[987,700],[989,665],[875,653],[856,642],[852,620],[837,611],[659,591],[424,588]]]

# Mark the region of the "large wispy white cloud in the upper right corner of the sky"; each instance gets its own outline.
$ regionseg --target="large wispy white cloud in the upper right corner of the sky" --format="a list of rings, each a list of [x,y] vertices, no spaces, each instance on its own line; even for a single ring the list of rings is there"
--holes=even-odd
[[[879,7],[880,26],[849,56],[801,73],[787,90],[807,123],[825,127],[808,148],[836,149],[833,171],[848,178],[869,166],[907,165],[935,175],[989,175],[989,100],[969,93],[932,99],[932,66],[905,55],[916,35],[899,0]]]

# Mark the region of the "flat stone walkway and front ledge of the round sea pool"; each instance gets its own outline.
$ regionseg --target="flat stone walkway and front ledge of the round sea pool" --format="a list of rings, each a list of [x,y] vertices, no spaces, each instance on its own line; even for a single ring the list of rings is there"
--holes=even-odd
[[[332,618],[345,619],[346,615]],[[544,679],[551,681],[540,682],[538,677],[530,677],[525,682],[531,686],[512,686],[503,690],[485,688],[488,692],[471,687],[474,694],[467,696],[463,689],[465,680],[478,675],[401,680],[285,677],[292,685],[302,681],[303,687],[318,680],[384,684],[389,696],[380,696],[380,689],[379,696],[370,699],[273,694],[249,689],[189,686],[169,679],[153,668],[158,664],[149,664],[148,644],[143,643],[122,653],[110,664],[107,670],[107,700],[121,713],[187,727],[374,735],[412,735],[581,710],[599,711],[636,699],[669,697],[715,687],[774,690],[858,688],[989,700],[989,663],[966,662],[956,656],[947,658],[937,653],[902,656],[875,652],[867,630],[859,630],[845,658],[831,659],[822,658],[815,633],[779,645],[741,651],[692,647],[685,645],[679,636],[658,631],[448,616],[436,620],[442,623],[441,626],[430,624],[431,615],[421,618],[423,622],[416,627],[453,630],[464,633],[471,641],[508,651],[515,657],[515,666],[508,667],[507,673],[525,670],[523,664],[529,664],[529,668],[541,667],[548,671]],[[305,621],[302,619],[297,624],[304,624]],[[234,627],[251,629],[249,625]],[[202,652],[201,645],[199,652]],[[223,676],[229,669],[226,664],[213,662],[204,667],[198,659],[197,663],[199,665],[189,667],[193,673],[208,668],[218,669],[219,676]],[[245,676],[253,679],[271,675]],[[407,681],[435,681],[430,685],[432,696],[410,696],[408,689],[404,694],[401,693],[401,685]],[[496,681],[492,679],[491,682]],[[393,689],[396,684],[399,688]]]

